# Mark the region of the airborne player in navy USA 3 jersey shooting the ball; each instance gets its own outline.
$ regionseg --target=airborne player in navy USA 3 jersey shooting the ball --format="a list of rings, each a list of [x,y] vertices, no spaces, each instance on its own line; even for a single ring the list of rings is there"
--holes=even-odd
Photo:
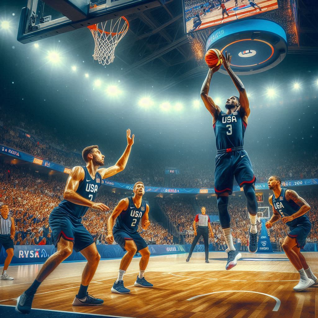
[[[241,258],[241,254],[233,245],[230,228],[231,218],[227,209],[234,177],[239,186],[243,187],[247,201],[247,210],[251,221],[248,250],[251,253],[257,251],[258,237],[256,228],[258,206],[254,190],[256,178],[247,152],[243,150],[247,118],[251,111],[244,85],[230,67],[231,58],[231,55],[225,52],[223,65],[239,91],[239,97],[231,96],[228,98],[225,103],[227,112],[224,113],[208,95],[212,75],[218,71],[221,65],[209,69],[201,89],[201,98],[213,117],[213,129],[218,149],[218,154],[215,157],[214,190],[217,196],[220,224],[228,246],[226,249],[228,258],[225,266],[227,270],[234,267],[237,260]]]

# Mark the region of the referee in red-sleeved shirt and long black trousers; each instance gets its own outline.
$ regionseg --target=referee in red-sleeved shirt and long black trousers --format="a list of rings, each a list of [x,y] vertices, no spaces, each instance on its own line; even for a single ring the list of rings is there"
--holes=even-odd
[[[196,223],[198,224],[197,230],[196,230]],[[210,263],[209,262],[209,230],[211,232],[212,238],[214,239],[214,235],[213,235],[211,224],[210,224],[210,218],[208,215],[205,214],[205,207],[203,206],[201,208],[201,214],[197,214],[196,218],[193,221],[193,231],[194,231],[195,238],[193,239],[193,242],[191,244],[187,262],[189,262],[192,252],[195,246],[197,245],[197,241],[201,238],[201,235],[202,235],[204,240],[205,263]]]

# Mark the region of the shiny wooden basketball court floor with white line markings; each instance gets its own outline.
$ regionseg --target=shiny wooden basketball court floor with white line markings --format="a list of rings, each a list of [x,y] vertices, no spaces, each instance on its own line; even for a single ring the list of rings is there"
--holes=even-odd
[[[318,253],[304,255],[317,276]],[[154,284],[152,289],[134,286],[139,272],[139,259],[134,258],[124,276],[125,287],[131,290],[128,295],[110,291],[120,260],[100,261],[88,288],[89,294],[104,299],[104,305],[97,307],[72,307],[85,262],[64,263],[41,284],[33,308],[97,317],[318,317],[318,285],[294,292],[299,274],[285,254],[242,253],[247,260],[240,260],[230,271],[225,270],[225,252],[210,252],[209,264],[204,263],[204,253],[193,253],[189,263],[186,257],[151,257],[145,277]],[[8,273],[15,279],[0,281],[0,313],[4,308],[1,305],[16,304],[16,298],[30,286],[41,266],[9,267]]]

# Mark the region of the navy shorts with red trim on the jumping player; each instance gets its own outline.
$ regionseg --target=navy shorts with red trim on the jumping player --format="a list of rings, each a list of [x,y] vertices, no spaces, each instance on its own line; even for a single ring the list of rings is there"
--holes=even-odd
[[[232,194],[234,177],[240,187],[253,184],[256,178],[245,150],[219,154],[215,157],[214,190],[216,194]]]

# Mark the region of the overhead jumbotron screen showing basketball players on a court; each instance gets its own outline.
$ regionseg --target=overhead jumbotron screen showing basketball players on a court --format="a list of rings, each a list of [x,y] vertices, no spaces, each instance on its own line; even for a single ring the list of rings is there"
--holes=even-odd
[[[277,0],[183,0],[186,33],[278,9]]]

